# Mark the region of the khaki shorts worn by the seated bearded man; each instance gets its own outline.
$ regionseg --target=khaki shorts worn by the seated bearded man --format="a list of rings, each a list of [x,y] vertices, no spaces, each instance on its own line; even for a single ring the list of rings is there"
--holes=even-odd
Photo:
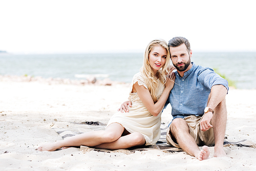
[[[209,130],[203,132],[200,130],[200,121],[202,116],[190,115],[184,118],[188,124],[190,135],[195,139],[196,143],[200,146],[202,145],[214,145],[214,129],[211,127]],[[172,123],[171,123],[172,124]],[[177,148],[180,148],[176,139],[172,139],[170,135],[170,126],[167,129],[166,133],[167,143],[173,145]]]

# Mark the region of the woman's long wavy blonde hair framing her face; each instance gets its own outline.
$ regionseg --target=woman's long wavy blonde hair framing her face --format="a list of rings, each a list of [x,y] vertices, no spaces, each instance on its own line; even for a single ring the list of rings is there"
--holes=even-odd
[[[150,61],[148,61],[148,55],[150,54],[150,52],[152,51],[152,49],[155,46],[162,47],[163,49],[166,50],[166,54],[167,54],[165,63],[162,67],[162,71],[158,70],[156,75],[154,75],[152,67],[150,66]],[[169,53],[168,45],[167,45],[166,41],[164,41],[162,39],[157,39],[157,40],[151,41],[145,50],[143,66],[141,67],[140,72],[141,72],[141,75],[148,87],[148,90],[150,91],[150,94],[152,96],[154,103],[156,103],[158,100],[157,96],[156,96],[157,89],[158,89],[157,77],[163,84],[165,84],[165,82],[166,82],[165,73],[168,73],[167,68],[169,66],[170,66],[170,53]]]

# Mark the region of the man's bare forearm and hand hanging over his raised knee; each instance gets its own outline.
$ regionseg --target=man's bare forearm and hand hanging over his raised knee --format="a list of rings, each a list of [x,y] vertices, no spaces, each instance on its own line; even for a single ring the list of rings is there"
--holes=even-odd
[[[211,91],[210,91],[210,95],[209,95],[209,99],[207,102],[207,107],[215,110],[216,106],[225,99],[227,94],[227,89],[226,87],[222,86],[222,85],[215,85],[212,86]],[[212,127],[212,125],[210,124],[210,120],[212,118],[212,113],[211,112],[207,112],[206,114],[204,114],[204,117],[202,118],[201,122],[200,122],[200,127],[202,131],[207,131],[210,129],[210,127]]]

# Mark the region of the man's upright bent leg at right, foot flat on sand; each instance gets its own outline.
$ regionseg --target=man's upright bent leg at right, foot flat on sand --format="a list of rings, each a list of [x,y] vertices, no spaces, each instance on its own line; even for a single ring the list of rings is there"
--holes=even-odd
[[[215,138],[215,153],[214,157],[227,156],[223,149],[223,141],[225,137],[227,123],[226,101],[222,100],[214,110],[214,115],[211,118],[211,124],[214,129]]]

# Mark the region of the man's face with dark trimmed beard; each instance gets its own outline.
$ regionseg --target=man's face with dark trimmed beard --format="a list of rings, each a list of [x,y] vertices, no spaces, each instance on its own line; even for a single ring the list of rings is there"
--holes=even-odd
[[[178,47],[170,47],[170,58],[172,59],[174,67],[180,72],[186,72],[191,68],[191,55],[192,51],[190,50],[190,53],[188,54],[185,44]]]

